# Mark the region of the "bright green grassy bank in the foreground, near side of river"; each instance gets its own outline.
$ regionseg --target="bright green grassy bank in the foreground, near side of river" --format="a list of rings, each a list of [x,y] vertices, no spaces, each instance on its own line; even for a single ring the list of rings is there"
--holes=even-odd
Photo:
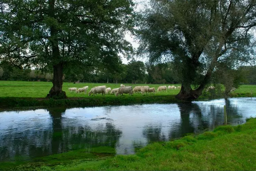
[[[149,144],[135,155],[105,158],[69,157],[69,162],[56,161],[59,156],[45,157],[2,170],[256,170],[256,118],[238,126],[219,126],[214,131],[182,139]],[[107,150],[109,151],[109,150]],[[68,152],[71,153],[71,152]],[[66,153],[66,154],[68,154]],[[97,153],[94,153],[97,154]],[[111,152],[108,152],[111,154]],[[65,154],[61,154],[65,156]],[[71,155],[71,156],[72,156]],[[81,153],[77,153],[81,155]],[[87,155],[87,157],[85,157]],[[52,161],[47,160],[53,159]],[[61,159],[61,158],[59,158]],[[3,164],[3,163],[2,163]],[[9,165],[10,166],[10,165]]]

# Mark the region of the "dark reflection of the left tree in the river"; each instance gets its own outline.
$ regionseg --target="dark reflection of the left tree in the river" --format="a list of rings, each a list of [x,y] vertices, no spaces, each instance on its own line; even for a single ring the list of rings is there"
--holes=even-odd
[[[92,127],[88,123],[81,124],[76,118],[63,117],[66,108],[47,111],[50,115],[48,122],[40,123],[49,123],[46,127],[35,125],[31,118],[26,118],[21,123],[25,126],[20,130],[5,132],[4,137],[0,138],[0,161],[13,161],[17,157],[18,160],[31,159],[81,148],[90,151],[90,148],[97,146],[115,147],[122,134],[110,122]]]

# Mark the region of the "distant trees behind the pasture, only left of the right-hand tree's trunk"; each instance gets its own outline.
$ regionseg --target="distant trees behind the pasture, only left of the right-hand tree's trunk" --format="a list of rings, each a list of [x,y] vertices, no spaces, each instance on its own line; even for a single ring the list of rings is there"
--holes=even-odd
[[[11,66],[9,63],[0,63],[0,80],[13,81],[52,81],[52,73],[40,70],[26,69],[21,66]],[[144,64],[142,61],[132,60],[127,65],[119,62],[115,69],[106,66],[78,66],[66,69],[63,76],[64,82],[88,83],[132,83],[132,84],[165,84],[178,83],[176,73],[172,71],[170,63],[158,65]]]

